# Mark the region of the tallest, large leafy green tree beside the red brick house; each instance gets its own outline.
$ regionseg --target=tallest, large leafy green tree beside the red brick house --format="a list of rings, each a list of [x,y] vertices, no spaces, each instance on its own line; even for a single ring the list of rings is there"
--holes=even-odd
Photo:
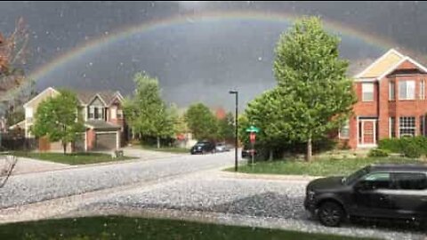
[[[317,17],[303,18],[280,36],[274,60],[278,87],[269,101],[272,125],[291,140],[307,144],[339,128],[355,103],[348,62],[339,58],[340,39]],[[270,132],[272,133],[272,132]]]

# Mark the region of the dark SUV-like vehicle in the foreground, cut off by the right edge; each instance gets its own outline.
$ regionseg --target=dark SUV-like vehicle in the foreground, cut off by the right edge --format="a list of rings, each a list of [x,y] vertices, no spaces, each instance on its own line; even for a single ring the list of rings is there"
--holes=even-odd
[[[328,227],[353,216],[425,223],[427,164],[376,164],[348,177],[312,180],[304,207]]]

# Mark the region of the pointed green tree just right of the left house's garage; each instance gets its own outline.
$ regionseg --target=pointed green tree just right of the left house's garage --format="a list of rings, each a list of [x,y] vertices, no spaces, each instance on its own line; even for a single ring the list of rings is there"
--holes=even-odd
[[[125,116],[133,132],[156,137],[157,148],[160,148],[161,138],[173,136],[176,115],[173,109],[171,112],[171,108],[166,108],[156,77],[139,72],[133,81],[136,92],[132,99],[125,100]]]

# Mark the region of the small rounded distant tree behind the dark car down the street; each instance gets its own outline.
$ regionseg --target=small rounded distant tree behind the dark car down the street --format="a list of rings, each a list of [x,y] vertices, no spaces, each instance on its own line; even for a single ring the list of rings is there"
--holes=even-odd
[[[197,140],[215,140],[218,135],[218,122],[212,111],[203,103],[189,106],[185,113],[189,130]]]

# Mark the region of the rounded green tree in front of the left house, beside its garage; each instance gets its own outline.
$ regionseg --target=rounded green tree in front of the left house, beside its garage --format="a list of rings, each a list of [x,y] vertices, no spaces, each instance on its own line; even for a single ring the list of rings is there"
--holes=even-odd
[[[78,114],[78,100],[74,92],[62,90],[56,97],[41,102],[34,116],[31,132],[36,137],[59,141],[64,155],[67,144],[77,140],[77,133],[85,132],[83,119]]]

